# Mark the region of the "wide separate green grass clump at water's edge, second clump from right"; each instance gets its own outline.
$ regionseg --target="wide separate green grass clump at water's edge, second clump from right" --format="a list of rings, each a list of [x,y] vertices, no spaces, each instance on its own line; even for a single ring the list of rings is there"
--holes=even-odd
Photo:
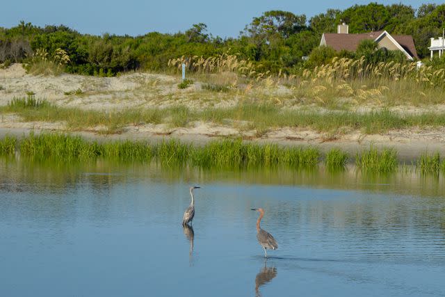
[[[357,168],[366,172],[394,172],[398,167],[397,152],[387,148],[378,152],[377,149],[371,147],[369,150],[362,152],[362,154],[357,153],[355,164]]]

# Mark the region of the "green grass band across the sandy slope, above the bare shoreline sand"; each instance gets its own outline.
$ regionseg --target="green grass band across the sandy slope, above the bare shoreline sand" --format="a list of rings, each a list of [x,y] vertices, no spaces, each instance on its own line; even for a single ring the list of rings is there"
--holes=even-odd
[[[229,108],[189,109],[172,106],[165,109],[125,109],[122,111],[92,111],[64,108],[34,98],[14,99],[1,106],[3,114],[15,114],[25,122],[64,122],[69,131],[102,127],[104,133],[116,133],[127,126],[166,124],[189,127],[195,121],[213,122],[240,131],[255,130],[257,136],[282,127],[312,129],[330,134],[361,131],[382,134],[391,129],[411,127],[444,127],[445,114],[422,113],[400,115],[388,110],[359,113],[356,111],[314,111],[285,109],[268,102],[243,102]]]

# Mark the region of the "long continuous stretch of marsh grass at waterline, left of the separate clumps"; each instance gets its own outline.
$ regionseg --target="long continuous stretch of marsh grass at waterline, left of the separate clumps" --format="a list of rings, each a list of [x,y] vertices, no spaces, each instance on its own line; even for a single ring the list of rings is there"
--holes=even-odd
[[[1,154],[15,152],[15,138],[5,138]],[[3,147],[6,149],[3,150]],[[12,147],[12,148],[11,148]],[[35,159],[87,160],[95,158],[121,161],[156,161],[163,166],[193,166],[197,168],[314,168],[320,152],[315,147],[280,147],[257,145],[241,140],[212,141],[203,146],[177,140],[147,142],[113,141],[88,142],[68,134],[33,134],[19,143],[23,156]]]

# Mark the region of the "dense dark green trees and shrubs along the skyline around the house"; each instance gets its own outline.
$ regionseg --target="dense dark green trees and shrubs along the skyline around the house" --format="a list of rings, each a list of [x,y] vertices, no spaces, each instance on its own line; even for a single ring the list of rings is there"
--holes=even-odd
[[[340,19],[348,23],[350,33],[386,30],[412,35],[420,58],[425,58],[430,38],[442,35],[445,4],[423,4],[414,10],[402,3],[369,3],[343,11],[327,9],[309,22],[305,15],[270,10],[253,17],[238,38],[226,39],[213,38],[202,23],[193,24],[184,33],[131,37],[81,34],[63,25],[39,27],[22,21],[0,32],[0,63],[23,62],[37,49],[48,53],[63,49],[71,61],[65,71],[109,77],[138,68],[165,70],[170,59],[181,56],[209,58],[229,52],[261,65],[264,72],[291,72],[300,67],[302,56],[319,45],[322,33],[336,31]]]

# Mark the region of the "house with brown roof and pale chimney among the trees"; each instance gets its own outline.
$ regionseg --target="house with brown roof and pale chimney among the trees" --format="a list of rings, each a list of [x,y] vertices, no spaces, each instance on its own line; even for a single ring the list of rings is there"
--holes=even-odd
[[[336,51],[345,49],[355,51],[362,40],[371,39],[378,43],[379,48],[390,51],[402,51],[408,60],[418,59],[414,40],[411,35],[391,35],[387,31],[349,34],[349,26],[345,23],[337,27],[337,33],[323,33],[320,46],[332,47]]]

